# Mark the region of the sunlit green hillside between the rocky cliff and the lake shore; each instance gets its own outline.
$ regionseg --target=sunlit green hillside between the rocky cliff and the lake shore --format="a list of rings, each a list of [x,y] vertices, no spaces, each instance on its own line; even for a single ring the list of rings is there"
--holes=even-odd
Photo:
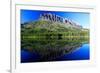
[[[22,35],[31,34],[65,34],[66,36],[88,36],[88,29],[75,28],[69,24],[49,22],[49,21],[34,21],[21,25]],[[34,35],[35,35],[34,34]]]

